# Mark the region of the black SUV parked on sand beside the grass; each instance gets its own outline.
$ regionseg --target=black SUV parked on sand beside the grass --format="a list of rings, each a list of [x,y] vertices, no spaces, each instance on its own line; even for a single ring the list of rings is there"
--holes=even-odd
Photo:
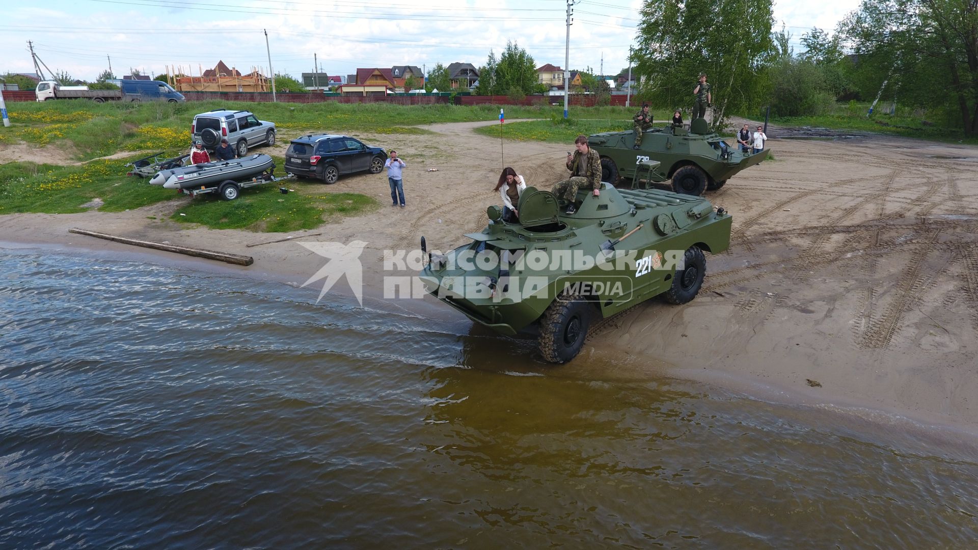
[[[387,154],[379,147],[333,134],[310,134],[293,139],[286,152],[286,172],[296,177],[315,177],[336,183],[341,174],[383,169]]]

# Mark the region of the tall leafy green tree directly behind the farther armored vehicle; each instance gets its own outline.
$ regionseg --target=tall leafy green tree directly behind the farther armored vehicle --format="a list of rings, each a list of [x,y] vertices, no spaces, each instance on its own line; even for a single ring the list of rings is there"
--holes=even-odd
[[[774,55],[771,0],[645,0],[633,77],[658,107],[691,106],[700,72],[713,85],[715,127],[761,101]]]

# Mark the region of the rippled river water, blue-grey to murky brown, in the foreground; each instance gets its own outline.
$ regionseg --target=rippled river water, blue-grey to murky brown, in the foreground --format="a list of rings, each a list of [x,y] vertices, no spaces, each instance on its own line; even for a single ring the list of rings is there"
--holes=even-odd
[[[900,423],[275,283],[36,251],[0,273],[2,548],[978,538],[970,442]]]

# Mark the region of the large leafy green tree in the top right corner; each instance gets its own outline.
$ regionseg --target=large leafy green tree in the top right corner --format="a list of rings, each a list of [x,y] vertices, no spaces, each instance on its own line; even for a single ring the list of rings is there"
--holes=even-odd
[[[859,56],[860,71],[871,75],[864,91],[871,86],[893,97],[899,90],[917,107],[953,110],[964,135],[978,135],[974,0],[863,0],[839,31]]]

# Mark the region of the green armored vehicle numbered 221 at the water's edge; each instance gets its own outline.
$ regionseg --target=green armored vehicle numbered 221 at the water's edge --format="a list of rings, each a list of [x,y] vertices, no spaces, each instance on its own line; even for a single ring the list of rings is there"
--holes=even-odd
[[[564,363],[593,321],[649,298],[695,298],[703,252],[730,246],[731,215],[699,197],[603,183],[576,203],[565,215],[554,194],[527,187],[518,222],[489,206],[488,226],[463,247],[427,252],[422,237],[425,291],[501,334],[538,336],[544,358]]]

